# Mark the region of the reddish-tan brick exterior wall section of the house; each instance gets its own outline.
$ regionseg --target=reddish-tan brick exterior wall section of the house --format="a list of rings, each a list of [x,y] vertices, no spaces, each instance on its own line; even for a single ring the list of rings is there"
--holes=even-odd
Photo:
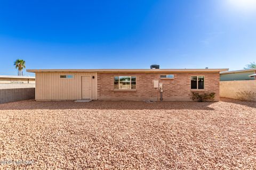
[[[161,74],[174,74],[173,80],[161,80]],[[114,91],[114,76],[133,75],[137,77],[137,91]],[[163,100],[191,100],[190,77],[205,76],[204,92],[215,92],[219,100],[219,73],[98,73],[99,100],[159,100],[160,92],[154,89],[153,81],[163,83]],[[193,90],[195,91],[195,90]],[[198,90],[199,91],[199,90]]]

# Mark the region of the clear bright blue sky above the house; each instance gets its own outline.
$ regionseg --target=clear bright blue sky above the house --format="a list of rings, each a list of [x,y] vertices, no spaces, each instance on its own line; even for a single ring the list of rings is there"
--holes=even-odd
[[[256,62],[254,1],[0,0],[0,74],[17,74],[17,58],[27,69],[243,69]]]

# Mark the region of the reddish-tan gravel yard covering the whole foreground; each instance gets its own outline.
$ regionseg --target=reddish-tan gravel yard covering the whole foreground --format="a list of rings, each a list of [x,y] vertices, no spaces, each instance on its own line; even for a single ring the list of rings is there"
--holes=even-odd
[[[25,100],[0,115],[0,169],[256,169],[255,102]]]

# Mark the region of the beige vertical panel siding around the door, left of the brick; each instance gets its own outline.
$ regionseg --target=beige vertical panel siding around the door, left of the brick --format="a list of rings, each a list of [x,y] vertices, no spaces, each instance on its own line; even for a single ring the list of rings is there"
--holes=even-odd
[[[61,79],[60,75],[73,75]],[[78,100],[82,99],[81,77],[91,77],[91,99],[97,99],[97,73],[86,72],[37,72],[36,100]],[[94,79],[92,79],[94,76]]]

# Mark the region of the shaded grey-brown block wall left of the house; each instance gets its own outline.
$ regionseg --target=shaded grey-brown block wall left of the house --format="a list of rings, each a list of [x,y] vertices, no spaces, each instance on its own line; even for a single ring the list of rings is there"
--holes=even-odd
[[[35,99],[35,88],[0,89],[0,104]]]

